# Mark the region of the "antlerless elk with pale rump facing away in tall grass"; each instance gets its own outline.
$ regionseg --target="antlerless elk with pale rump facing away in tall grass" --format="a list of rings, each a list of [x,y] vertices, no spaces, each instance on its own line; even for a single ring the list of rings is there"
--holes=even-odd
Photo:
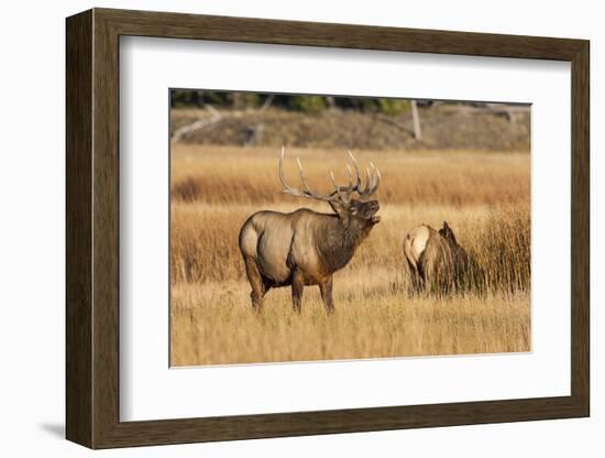
[[[447,221],[439,230],[428,225],[411,229],[404,240],[404,254],[415,293],[442,296],[483,290],[481,268],[458,243]]]

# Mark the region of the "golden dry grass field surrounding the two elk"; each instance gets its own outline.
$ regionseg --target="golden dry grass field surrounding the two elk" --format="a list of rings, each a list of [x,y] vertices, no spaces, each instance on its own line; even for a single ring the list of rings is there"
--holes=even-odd
[[[301,315],[289,288],[253,313],[238,249],[245,219],[262,209],[327,204],[280,192],[278,150],[172,145],[170,355],[173,366],[331,360],[530,350],[530,161],[527,153],[354,151],[383,179],[382,221],[334,274],[337,312],[317,287]],[[340,150],[288,150],[311,186],[344,181]],[[403,240],[419,223],[447,220],[484,269],[481,291],[444,298],[413,294]]]

